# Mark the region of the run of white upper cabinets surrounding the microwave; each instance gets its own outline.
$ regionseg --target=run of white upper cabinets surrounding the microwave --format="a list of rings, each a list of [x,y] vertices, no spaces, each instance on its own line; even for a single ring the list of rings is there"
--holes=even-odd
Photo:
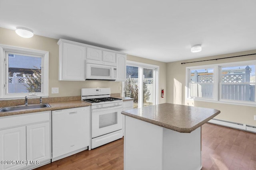
[[[65,39],[60,39],[58,45],[59,80],[84,81],[88,71],[86,64],[90,63],[117,67],[116,81],[125,81],[125,54]]]

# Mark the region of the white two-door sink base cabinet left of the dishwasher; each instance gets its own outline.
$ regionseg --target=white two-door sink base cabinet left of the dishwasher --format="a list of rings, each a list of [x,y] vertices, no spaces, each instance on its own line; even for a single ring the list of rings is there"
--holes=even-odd
[[[50,115],[46,111],[0,117],[0,170],[33,169],[51,162]]]

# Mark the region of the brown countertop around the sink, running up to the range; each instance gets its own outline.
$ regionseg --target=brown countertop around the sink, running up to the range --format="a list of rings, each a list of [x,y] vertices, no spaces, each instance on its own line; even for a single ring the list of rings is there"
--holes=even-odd
[[[90,103],[83,102],[82,100],[77,101],[68,101],[68,102],[51,102],[48,103],[51,107],[44,107],[39,109],[28,109],[28,110],[20,110],[20,111],[5,111],[0,112],[0,117],[2,116],[10,116],[10,115],[20,115],[25,113],[34,113],[39,111],[52,111],[52,110],[59,110],[59,109],[70,109],[74,107],[85,107],[91,106]]]

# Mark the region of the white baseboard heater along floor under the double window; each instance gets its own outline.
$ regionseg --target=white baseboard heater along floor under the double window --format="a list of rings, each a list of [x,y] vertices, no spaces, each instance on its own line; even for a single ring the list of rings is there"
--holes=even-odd
[[[256,133],[255,126],[246,125],[246,124],[242,124],[242,123],[236,123],[236,122],[232,122],[232,121],[224,121],[224,120],[219,120],[219,119],[211,119],[208,121],[208,123],[213,123],[216,125],[222,125],[222,126],[226,126],[226,127],[240,129],[243,131],[249,131],[249,132]]]

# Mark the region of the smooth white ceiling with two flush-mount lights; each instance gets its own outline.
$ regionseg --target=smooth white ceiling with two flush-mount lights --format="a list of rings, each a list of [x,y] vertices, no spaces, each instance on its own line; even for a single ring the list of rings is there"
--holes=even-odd
[[[256,0],[0,0],[0,27],[17,26],[172,62],[256,49]]]

